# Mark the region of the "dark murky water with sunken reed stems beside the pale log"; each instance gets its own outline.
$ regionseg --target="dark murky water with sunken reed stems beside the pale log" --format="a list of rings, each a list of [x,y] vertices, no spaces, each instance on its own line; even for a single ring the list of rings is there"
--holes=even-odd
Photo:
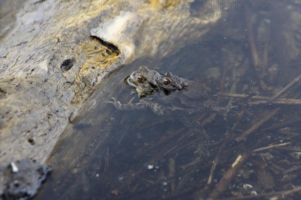
[[[300,186],[300,104],[283,99],[264,102],[264,96],[275,95],[300,74],[300,4],[257,3],[253,2],[253,8],[257,7],[249,12],[232,8],[202,41],[181,49],[170,46],[168,57],[145,56],[110,74],[64,132],[49,159],[52,172],[35,199],[209,196],[244,153],[246,160],[219,197],[255,193],[271,193],[266,195],[271,197],[277,194],[273,192]],[[122,103],[131,98],[138,101],[123,79],[140,65],[206,84],[211,99],[221,106],[242,98],[217,97],[218,92],[252,92],[263,97],[241,101],[226,119],[210,117],[210,112],[197,113],[194,118],[210,136],[211,155],[198,160],[193,153],[198,141],[187,135],[181,116],[158,116],[149,108],[120,111],[107,103],[111,96]],[[280,97],[299,99],[300,81]],[[273,110],[277,112],[271,113]],[[247,131],[252,133],[246,140],[237,139]],[[255,150],[285,142],[290,143]],[[213,181],[204,189],[213,160],[218,161]],[[286,197],[299,195],[300,190]]]

